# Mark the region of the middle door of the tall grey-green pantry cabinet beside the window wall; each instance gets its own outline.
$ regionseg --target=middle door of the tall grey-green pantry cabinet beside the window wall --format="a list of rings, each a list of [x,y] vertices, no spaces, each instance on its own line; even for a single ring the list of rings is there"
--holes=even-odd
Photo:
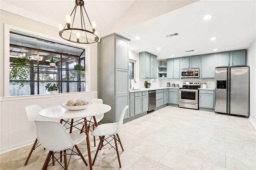
[[[129,71],[116,69],[116,95],[129,93]]]

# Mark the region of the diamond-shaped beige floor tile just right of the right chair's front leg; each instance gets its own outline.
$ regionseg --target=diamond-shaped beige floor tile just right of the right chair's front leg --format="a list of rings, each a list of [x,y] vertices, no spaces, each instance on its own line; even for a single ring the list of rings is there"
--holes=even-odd
[[[164,154],[166,154],[169,148],[149,140],[144,140],[132,150],[158,162]]]

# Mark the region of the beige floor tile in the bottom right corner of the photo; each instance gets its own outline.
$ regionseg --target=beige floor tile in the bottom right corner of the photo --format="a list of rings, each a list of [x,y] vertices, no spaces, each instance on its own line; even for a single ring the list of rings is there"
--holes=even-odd
[[[234,154],[226,153],[226,168],[230,170],[255,170],[255,159],[244,158]]]

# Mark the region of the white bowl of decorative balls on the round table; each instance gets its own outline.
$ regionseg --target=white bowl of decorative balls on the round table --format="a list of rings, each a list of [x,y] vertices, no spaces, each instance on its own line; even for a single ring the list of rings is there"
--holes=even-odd
[[[68,109],[70,111],[79,111],[79,110],[86,109],[91,104],[92,103],[90,103],[90,102],[78,99],[76,102],[69,100],[67,103],[62,103],[61,106],[64,109]]]

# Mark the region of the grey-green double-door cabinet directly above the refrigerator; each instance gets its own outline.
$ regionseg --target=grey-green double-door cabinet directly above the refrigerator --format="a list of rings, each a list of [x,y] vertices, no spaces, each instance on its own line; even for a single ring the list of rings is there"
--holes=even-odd
[[[215,54],[216,67],[235,67],[246,65],[246,50]]]

